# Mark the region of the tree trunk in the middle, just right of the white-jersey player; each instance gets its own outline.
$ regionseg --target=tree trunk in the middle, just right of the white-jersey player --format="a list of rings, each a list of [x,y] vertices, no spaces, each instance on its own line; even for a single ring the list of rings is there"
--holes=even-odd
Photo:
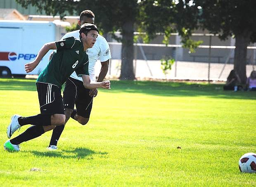
[[[134,80],[135,75],[133,71],[133,21],[127,21],[122,26],[122,64],[121,75],[119,79]]]

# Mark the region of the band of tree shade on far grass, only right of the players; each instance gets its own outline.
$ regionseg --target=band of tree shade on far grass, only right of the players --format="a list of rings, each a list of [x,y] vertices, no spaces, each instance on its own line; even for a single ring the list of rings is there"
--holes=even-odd
[[[191,82],[152,82],[152,81],[111,81],[111,90],[104,92],[144,93],[156,96],[193,97],[207,96],[227,99],[256,99],[256,92],[224,91],[223,84]]]

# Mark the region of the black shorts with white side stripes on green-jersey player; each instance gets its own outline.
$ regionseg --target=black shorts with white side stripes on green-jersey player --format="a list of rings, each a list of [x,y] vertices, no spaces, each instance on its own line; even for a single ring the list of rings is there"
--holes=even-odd
[[[61,90],[50,83],[36,82],[41,114],[64,114]]]

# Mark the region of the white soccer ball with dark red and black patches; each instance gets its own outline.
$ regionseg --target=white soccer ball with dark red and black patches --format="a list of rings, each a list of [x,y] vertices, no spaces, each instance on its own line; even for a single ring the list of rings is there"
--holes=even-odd
[[[238,162],[239,170],[244,173],[256,173],[256,154],[244,154]]]

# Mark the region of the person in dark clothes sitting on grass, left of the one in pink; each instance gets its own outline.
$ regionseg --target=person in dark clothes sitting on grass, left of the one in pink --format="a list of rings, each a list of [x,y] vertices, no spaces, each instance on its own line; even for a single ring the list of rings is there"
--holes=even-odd
[[[223,86],[224,90],[242,90],[242,86],[241,84],[241,80],[238,76],[238,74],[236,73],[236,71],[233,69],[230,71],[228,78],[227,78],[227,82],[226,84]]]

